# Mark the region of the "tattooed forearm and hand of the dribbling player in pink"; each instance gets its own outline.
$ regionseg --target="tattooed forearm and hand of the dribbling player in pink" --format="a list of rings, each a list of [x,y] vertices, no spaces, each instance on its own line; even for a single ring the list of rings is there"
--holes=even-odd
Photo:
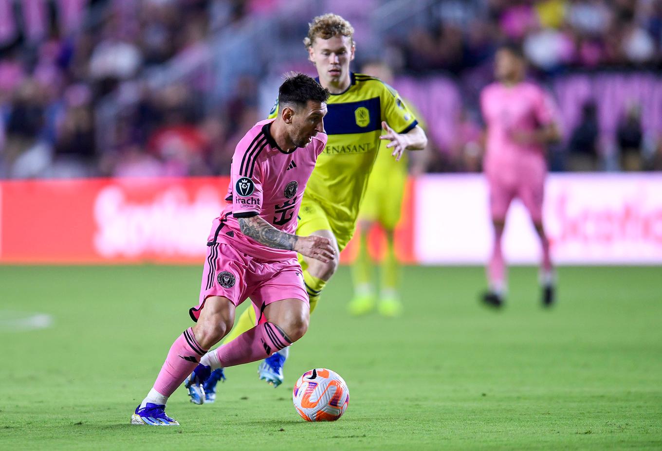
[[[336,254],[336,250],[328,238],[316,235],[302,237],[285,233],[271,226],[271,224],[260,218],[260,216],[238,218],[238,221],[244,235],[251,237],[265,246],[273,247],[273,249],[297,251],[300,254],[324,263],[331,261]]]

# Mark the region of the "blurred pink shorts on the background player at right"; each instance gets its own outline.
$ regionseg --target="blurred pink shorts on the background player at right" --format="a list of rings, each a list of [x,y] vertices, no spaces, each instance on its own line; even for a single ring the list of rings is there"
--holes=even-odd
[[[505,220],[510,202],[520,198],[534,222],[542,222],[542,204],[545,196],[545,177],[528,177],[507,181],[488,177],[490,213],[493,220]]]

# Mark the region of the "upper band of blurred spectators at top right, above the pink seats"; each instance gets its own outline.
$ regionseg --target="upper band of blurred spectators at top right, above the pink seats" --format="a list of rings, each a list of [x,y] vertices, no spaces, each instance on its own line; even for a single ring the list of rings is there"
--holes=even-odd
[[[658,0],[449,0],[431,6],[426,22],[399,43],[410,71],[461,73],[504,41],[522,44],[547,73],[662,63]]]

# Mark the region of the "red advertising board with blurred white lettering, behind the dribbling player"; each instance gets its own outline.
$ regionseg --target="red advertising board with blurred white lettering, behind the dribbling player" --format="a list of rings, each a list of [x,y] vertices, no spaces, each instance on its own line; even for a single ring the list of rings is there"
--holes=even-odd
[[[226,177],[0,183],[0,262],[202,263],[227,186]],[[411,261],[412,202],[403,210],[398,251]]]

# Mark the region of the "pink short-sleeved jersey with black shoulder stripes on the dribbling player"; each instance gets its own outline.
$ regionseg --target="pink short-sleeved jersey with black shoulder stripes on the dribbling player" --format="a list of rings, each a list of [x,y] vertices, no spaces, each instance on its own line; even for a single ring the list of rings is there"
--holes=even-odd
[[[235,249],[261,259],[296,258],[295,251],[273,249],[244,235],[237,218],[260,216],[286,233],[297,230],[297,215],[306,183],[324,150],[326,134],[319,133],[306,147],[283,151],[270,133],[271,120],[258,122],[237,144],[232,155],[226,206],[216,219],[207,240],[231,244]]]

